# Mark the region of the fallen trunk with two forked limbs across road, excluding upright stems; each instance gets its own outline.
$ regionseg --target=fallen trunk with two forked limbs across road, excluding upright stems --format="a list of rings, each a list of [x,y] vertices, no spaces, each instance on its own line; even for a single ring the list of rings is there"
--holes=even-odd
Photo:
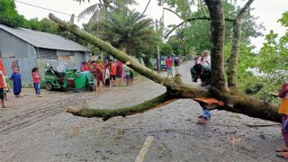
[[[230,89],[220,88],[220,90],[212,86],[202,88],[199,86],[185,85],[182,82],[180,75],[176,75],[174,78],[159,76],[156,72],[148,67],[142,66],[139,64],[139,62],[133,58],[130,58],[121,50],[114,49],[110,43],[100,40],[93,35],[78,29],[76,25],[63,22],[53,14],[49,14],[49,18],[55,23],[58,23],[58,25],[63,29],[71,31],[79,38],[87,40],[104,51],[109,52],[114,58],[117,58],[123,62],[129,61],[129,67],[134,69],[140,75],[148,77],[159,85],[166,86],[165,94],[159,95],[148,102],[140,103],[139,105],[120,109],[88,109],[68,107],[66,112],[71,112],[74,115],[83,117],[99,117],[103,118],[103,120],[108,120],[113,116],[127,116],[139,112],[146,112],[166,103],[173,102],[175,99],[211,97],[226,103],[226,106],[220,107],[221,110],[239,112],[251,117],[257,117],[268,121],[281,121],[281,115],[277,113],[277,107],[275,104],[266,103],[258,100],[257,98],[252,98],[247,94],[241,94],[233,87]],[[219,85],[216,84],[216,86]]]

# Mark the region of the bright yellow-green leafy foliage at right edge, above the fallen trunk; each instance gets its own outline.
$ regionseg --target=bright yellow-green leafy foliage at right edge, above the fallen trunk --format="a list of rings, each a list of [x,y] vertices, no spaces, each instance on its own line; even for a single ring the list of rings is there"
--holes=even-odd
[[[288,12],[285,12],[278,22],[284,27],[288,27]],[[266,75],[260,76],[250,83],[264,85],[255,94],[257,97],[269,102],[278,102],[279,99],[271,94],[277,94],[283,82],[287,82],[288,31],[286,30],[283,36],[279,36],[275,31],[270,31],[266,35],[266,42],[263,45],[257,60],[257,67]]]

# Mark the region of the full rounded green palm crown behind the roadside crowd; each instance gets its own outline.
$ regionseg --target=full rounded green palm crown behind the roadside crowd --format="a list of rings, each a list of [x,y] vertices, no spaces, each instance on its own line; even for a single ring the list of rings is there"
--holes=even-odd
[[[152,24],[152,19],[124,7],[107,14],[97,35],[115,48],[139,57],[139,51],[150,49],[159,40]]]

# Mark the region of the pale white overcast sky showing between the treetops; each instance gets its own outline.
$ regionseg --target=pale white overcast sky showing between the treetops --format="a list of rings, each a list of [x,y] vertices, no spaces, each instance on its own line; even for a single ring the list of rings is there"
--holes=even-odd
[[[95,4],[98,3],[98,0],[90,0],[90,2],[91,4]],[[139,13],[142,13],[146,7],[146,4],[148,3],[148,0],[137,0],[137,2],[139,5],[130,8],[135,8],[135,10],[137,10]],[[244,3],[245,2],[247,1],[244,1]],[[78,15],[83,10],[85,10],[87,6],[91,5],[88,3],[79,4],[73,0],[15,0],[15,4],[18,13],[23,14],[26,19],[38,17],[39,20],[41,20],[44,17],[48,17],[49,13],[52,13],[58,16],[58,18],[66,21],[70,19],[70,14]],[[63,14],[31,6],[30,4],[57,11]],[[274,30],[276,33],[284,35],[286,29],[282,27],[280,23],[276,22],[281,18],[285,11],[288,11],[288,0],[256,0],[253,4],[251,4],[251,6],[255,8],[253,14],[259,16],[258,22],[264,23],[266,26],[265,33],[268,33],[270,30]],[[146,15],[156,20],[161,18],[162,13],[163,9],[157,5],[157,0],[151,0],[146,11]],[[174,14],[171,14],[170,12],[165,11],[164,17],[166,25],[171,23],[181,23],[181,20],[179,20]],[[86,17],[77,24],[80,25],[82,23],[86,23],[88,19],[89,17]],[[257,46],[257,49],[261,48],[261,44],[263,42],[264,38],[252,40],[252,43]]]

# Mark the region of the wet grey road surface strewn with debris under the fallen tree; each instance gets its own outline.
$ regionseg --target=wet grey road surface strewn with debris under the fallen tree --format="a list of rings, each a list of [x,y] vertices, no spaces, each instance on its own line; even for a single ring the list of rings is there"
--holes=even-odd
[[[184,82],[191,84],[189,68],[189,63],[180,67]],[[43,90],[42,98],[33,89],[24,89],[23,98],[9,94],[10,108],[0,112],[0,161],[135,161],[150,136],[144,161],[282,161],[275,157],[275,148],[284,145],[280,126],[247,126],[275,122],[212,111],[211,122],[200,126],[195,121],[201,107],[189,99],[108,121],[63,112],[68,105],[82,106],[84,100],[88,107],[119,108],[165,91],[139,77],[134,85],[96,92]]]

